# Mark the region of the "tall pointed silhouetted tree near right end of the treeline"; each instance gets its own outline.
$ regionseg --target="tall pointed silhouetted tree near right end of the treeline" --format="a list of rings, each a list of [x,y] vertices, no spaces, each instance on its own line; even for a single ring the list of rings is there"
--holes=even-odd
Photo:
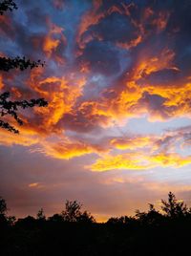
[[[161,209],[170,218],[181,217],[189,212],[186,204],[179,202],[172,192],[168,194],[168,201],[161,200],[161,203]]]

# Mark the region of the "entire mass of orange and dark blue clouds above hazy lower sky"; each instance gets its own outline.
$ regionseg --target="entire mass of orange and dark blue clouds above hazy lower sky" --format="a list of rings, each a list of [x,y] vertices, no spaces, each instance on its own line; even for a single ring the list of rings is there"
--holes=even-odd
[[[93,168],[172,166],[173,158],[176,166],[188,163],[188,132],[127,137],[107,132],[116,123],[128,127],[132,117],[146,116],[150,122],[190,118],[189,26],[178,15],[185,12],[189,23],[190,6],[168,1],[95,0],[80,8],[75,1],[41,3],[46,8],[20,1],[23,9],[12,19],[1,17],[0,46],[9,38],[1,54],[27,54],[46,65],[21,74],[2,73],[0,88],[11,90],[14,98],[45,97],[49,106],[22,112],[21,139],[2,133],[1,143],[37,145],[45,155],[63,160],[110,152]],[[98,142],[94,133],[100,133]]]

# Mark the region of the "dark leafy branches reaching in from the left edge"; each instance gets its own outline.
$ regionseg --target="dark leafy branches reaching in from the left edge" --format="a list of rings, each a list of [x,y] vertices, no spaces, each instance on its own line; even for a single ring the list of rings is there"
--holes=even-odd
[[[13,9],[17,9],[16,4],[11,0],[5,0],[0,3],[0,14],[2,15],[5,11],[12,11]],[[19,69],[20,71],[24,71],[27,68],[36,68],[39,65],[43,66],[40,60],[31,61],[30,59],[26,59],[26,57],[2,57],[0,56],[0,71],[9,72],[11,69]],[[37,98],[31,100],[9,100],[10,97],[9,92],[5,92],[0,95],[0,117],[13,117],[14,120],[19,125],[23,124],[23,120],[18,117],[18,111],[20,109],[32,108],[34,106],[45,107],[47,106],[47,101],[44,98]],[[2,120],[0,119],[0,127],[6,129],[13,133],[19,133],[19,131],[10,124],[10,120]]]

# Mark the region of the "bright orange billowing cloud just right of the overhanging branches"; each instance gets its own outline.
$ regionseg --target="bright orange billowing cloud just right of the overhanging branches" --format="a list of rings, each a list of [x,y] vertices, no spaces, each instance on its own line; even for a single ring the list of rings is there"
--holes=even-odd
[[[42,78],[43,69],[33,70],[28,84],[40,96],[45,97],[49,105],[46,108],[35,108],[35,114],[41,117],[46,130],[52,130],[54,125],[72,111],[76,99],[82,95],[85,77],[71,78],[48,76]]]

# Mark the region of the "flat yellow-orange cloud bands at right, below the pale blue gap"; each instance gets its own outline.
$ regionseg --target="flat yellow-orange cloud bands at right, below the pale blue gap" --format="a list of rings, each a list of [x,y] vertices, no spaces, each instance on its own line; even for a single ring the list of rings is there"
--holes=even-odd
[[[156,167],[180,168],[191,164],[191,156],[183,156],[177,153],[185,144],[185,138],[189,140],[189,128],[164,133],[160,136],[141,136],[130,138],[111,139],[112,150],[128,150],[128,153],[118,155],[104,154],[91,166],[93,171],[102,172],[115,169],[145,170]]]

